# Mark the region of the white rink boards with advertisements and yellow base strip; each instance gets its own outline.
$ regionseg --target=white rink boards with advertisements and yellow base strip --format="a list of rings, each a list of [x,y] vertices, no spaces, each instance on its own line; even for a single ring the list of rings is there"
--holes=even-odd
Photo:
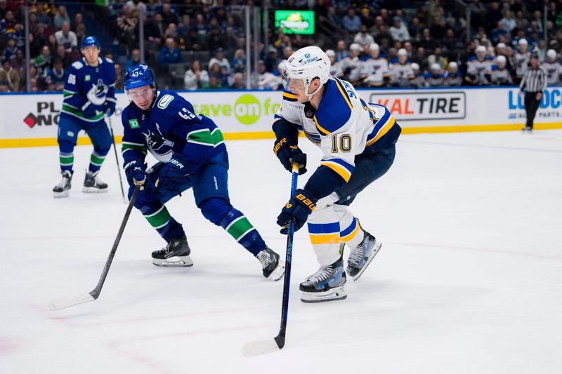
[[[273,114],[279,109],[279,91],[178,91],[195,112],[210,116],[227,140],[273,138]],[[523,98],[517,87],[362,89],[368,102],[386,105],[403,133],[514,131],[525,123]],[[547,88],[535,117],[535,128],[562,128],[562,87]],[[123,128],[122,109],[129,103],[117,93],[112,127],[117,142]],[[0,148],[56,145],[62,93],[0,95]],[[86,137],[79,144],[89,144]]]

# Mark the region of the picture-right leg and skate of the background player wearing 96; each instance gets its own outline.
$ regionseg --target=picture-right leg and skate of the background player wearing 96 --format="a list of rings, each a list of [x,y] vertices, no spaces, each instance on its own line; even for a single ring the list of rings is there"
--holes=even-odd
[[[105,156],[110,152],[112,140],[111,134],[104,121],[86,128],[86,133],[90,137],[93,145],[93,152],[90,155],[90,164],[84,178],[84,188],[82,192],[107,192],[107,183],[100,180],[101,164]]]

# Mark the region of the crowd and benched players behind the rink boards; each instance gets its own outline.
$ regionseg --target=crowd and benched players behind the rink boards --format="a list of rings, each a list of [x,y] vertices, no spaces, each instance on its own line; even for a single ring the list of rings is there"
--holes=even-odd
[[[115,47],[103,44],[102,53],[115,61],[118,89],[124,69],[141,62],[139,12],[145,62],[155,67],[159,84],[187,90],[246,87],[242,5],[247,1],[110,2],[99,6],[94,22]],[[268,45],[258,46],[253,84],[279,89],[285,60],[308,45],[327,51],[332,75],[359,87],[512,85],[533,53],[549,84],[561,84],[562,0],[464,2],[471,9],[470,27],[458,1],[268,1],[270,34]],[[80,10],[80,3],[30,1],[32,91],[63,89],[68,67],[80,57],[81,40],[90,34],[86,14],[67,11]],[[23,91],[27,83],[22,4],[0,0],[1,92]],[[275,9],[315,11],[315,34],[275,29]]]

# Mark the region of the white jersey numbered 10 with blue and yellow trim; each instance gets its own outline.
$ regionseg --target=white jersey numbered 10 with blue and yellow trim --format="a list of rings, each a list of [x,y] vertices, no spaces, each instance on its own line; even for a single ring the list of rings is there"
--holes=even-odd
[[[286,136],[296,144],[298,132],[303,131],[322,150],[320,166],[305,187],[317,199],[349,181],[355,156],[393,145],[400,135],[391,112],[363,100],[349,82],[332,76],[324,88],[318,109],[310,102],[301,104],[294,94],[283,91],[282,106],[273,121],[277,139]]]

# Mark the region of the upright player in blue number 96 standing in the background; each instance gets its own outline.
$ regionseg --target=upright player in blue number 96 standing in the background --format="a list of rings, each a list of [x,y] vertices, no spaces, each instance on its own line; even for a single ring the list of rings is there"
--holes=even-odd
[[[93,144],[90,165],[86,171],[83,192],[107,192],[107,185],[98,173],[109,152],[112,139],[103,119],[115,112],[115,66],[108,58],[100,57],[96,36],[88,36],[81,44],[84,58],[74,62],[65,83],[63,109],[58,121],[58,149],[60,173],[63,178],[53,188],[55,197],[68,196],[74,166],[74,147],[81,130],[86,131]]]

